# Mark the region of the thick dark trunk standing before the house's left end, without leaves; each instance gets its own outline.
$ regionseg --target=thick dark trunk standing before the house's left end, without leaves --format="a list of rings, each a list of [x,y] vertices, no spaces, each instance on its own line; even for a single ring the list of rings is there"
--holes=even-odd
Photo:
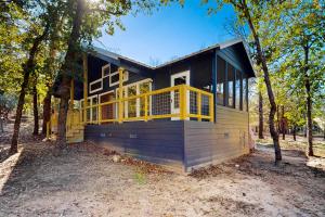
[[[68,111],[70,80],[76,73],[76,61],[79,51],[80,28],[82,17],[84,14],[83,0],[77,1],[76,13],[73,20],[73,29],[68,39],[68,49],[65,55],[64,64],[61,67],[62,81],[58,88],[60,110],[58,110],[58,124],[57,124],[57,145],[60,149],[66,148],[66,118]]]

